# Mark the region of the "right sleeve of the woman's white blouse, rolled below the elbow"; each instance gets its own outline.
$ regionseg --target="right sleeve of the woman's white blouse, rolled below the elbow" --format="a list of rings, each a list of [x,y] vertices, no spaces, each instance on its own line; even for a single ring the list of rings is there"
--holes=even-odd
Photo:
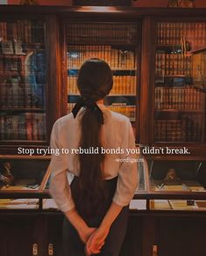
[[[137,160],[137,154],[130,153],[127,155],[126,153],[126,149],[136,149],[135,138],[129,120],[124,129],[124,138],[121,148],[124,149],[124,154],[121,157],[123,162],[119,168],[117,189],[113,201],[117,205],[126,206],[130,203],[138,184],[138,163],[137,161],[131,161],[133,158]]]

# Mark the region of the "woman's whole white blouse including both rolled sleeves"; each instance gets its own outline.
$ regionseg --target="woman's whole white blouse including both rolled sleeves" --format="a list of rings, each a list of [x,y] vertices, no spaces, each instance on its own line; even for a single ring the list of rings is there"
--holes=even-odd
[[[103,111],[103,150],[107,150],[108,153],[103,162],[103,179],[112,179],[118,176],[113,201],[117,205],[126,206],[133,197],[138,181],[137,162],[128,161],[137,155],[126,150],[136,149],[131,122],[123,114],[112,112],[102,104],[98,104],[98,106]],[[83,107],[76,118],[74,118],[73,113],[69,113],[53,124],[51,149],[55,149],[56,154],[52,155],[50,163],[52,170],[50,194],[63,212],[75,208],[67,172],[75,176],[80,173],[78,154],[81,153],[79,143],[82,111]]]

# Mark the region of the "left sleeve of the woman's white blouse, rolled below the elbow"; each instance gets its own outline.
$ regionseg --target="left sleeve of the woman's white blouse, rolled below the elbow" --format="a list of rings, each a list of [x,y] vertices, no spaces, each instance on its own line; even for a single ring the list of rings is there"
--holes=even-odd
[[[61,154],[60,138],[58,138],[60,131],[58,130],[58,127],[59,123],[56,121],[53,125],[50,139],[51,149],[59,152],[56,155],[52,155],[50,162],[50,194],[58,208],[60,208],[62,212],[67,212],[70,209],[75,208],[75,202],[73,201],[71,189],[67,180],[67,155]]]

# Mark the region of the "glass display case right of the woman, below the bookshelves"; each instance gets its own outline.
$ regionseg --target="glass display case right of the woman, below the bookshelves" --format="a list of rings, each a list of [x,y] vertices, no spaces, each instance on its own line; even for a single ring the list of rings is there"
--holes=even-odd
[[[205,160],[155,159],[147,165],[149,191],[156,194],[156,199],[150,200],[151,209],[206,210]]]

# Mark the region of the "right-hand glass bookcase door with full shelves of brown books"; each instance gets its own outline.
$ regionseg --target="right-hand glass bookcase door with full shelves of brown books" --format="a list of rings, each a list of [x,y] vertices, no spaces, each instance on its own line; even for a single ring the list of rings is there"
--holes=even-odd
[[[206,22],[158,22],[156,143],[205,143]]]

